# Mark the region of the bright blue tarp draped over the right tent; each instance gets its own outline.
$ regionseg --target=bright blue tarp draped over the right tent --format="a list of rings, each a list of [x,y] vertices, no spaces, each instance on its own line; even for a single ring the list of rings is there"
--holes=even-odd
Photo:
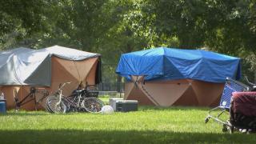
[[[122,54],[116,73],[144,75],[146,80],[190,78],[205,82],[225,82],[226,77],[241,77],[240,58],[205,50],[159,47]]]

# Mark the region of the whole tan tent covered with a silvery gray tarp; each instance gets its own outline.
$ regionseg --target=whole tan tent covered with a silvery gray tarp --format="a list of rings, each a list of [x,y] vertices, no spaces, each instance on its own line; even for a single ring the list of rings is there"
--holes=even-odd
[[[17,48],[0,52],[0,92],[6,97],[7,108],[14,108],[14,90],[19,99],[30,93],[30,87],[45,88],[50,93],[62,82],[71,82],[64,87],[70,94],[80,82],[89,85],[101,81],[100,54],[51,46],[40,50]],[[42,94],[36,94],[37,98]],[[42,102],[43,104],[44,102]],[[34,102],[22,106],[34,110]]]

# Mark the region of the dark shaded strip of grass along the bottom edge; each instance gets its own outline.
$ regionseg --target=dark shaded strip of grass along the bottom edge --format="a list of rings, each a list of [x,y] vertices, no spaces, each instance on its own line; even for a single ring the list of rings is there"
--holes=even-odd
[[[255,134],[135,130],[0,130],[1,143],[255,143]]]

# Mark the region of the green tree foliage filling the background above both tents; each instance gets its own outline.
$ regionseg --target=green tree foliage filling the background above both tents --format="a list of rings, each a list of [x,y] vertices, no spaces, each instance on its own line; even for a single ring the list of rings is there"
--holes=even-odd
[[[70,46],[116,64],[150,47],[205,48],[256,70],[255,0],[2,0],[0,28],[2,50]]]

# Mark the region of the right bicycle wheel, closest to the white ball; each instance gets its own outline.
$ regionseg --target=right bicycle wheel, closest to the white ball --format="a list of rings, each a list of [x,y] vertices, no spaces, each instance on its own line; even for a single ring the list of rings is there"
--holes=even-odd
[[[82,107],[90,113],[99,113],[102,111],[102,106],[104,103],[102,100],[94,97],[85,98],[82,101]]]

